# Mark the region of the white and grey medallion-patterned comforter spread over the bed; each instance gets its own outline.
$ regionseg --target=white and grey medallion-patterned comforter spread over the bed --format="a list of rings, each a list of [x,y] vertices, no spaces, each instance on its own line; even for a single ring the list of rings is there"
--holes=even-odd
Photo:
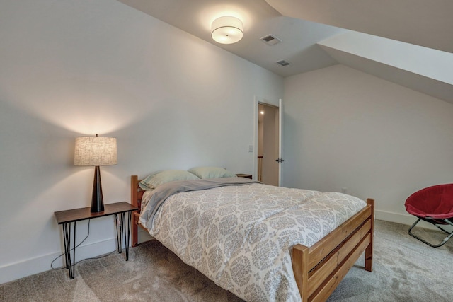
[[[246,301],[300,301],[292,246],[314,245],[365,205],[338,192],[252,183],[174,194],[140,223],[183,262]]]

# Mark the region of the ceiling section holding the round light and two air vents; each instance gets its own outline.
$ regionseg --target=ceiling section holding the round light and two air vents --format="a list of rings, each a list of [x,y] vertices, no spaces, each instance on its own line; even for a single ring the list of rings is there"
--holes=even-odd
[[[202,40],[243,57],[280,76],[337,64],[316,42],[344,33],[330,25],[282,16],[264,0],[118,0],[149,16],[195,35]],[[211,23],[221,16],[235,16],[243,22],[243,39],[222,45],[211,38]],[[275,35],[281,43],[266,45],[260,40]],[[290,64],[280,66],[278,61]]]

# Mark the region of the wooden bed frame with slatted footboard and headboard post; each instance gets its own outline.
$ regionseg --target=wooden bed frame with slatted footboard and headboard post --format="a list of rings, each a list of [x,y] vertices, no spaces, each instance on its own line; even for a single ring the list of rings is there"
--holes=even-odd
[[[143,191],[131,177],[131,202],[140,209]],[[132,246],[137,246],[139,212],[132,215]],[[372,271],[374,199],[315,245],[292,248],[292,268],[302,301],[326,301],[352,265],[365,252],[365,269]]]

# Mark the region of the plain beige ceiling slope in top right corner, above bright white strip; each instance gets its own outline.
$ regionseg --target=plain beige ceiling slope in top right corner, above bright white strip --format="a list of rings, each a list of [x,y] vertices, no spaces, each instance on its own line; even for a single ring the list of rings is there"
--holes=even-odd
[[[452,0],[265,0],[283,16],[453,52]]]

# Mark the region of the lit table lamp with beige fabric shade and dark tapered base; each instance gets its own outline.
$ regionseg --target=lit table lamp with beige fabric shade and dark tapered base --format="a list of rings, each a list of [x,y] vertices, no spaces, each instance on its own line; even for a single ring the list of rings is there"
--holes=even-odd
[[[104,210],[100,165],[116,165],[117,149],[114,137],[76,137],[74,165],[94,165],[91,212]]]

